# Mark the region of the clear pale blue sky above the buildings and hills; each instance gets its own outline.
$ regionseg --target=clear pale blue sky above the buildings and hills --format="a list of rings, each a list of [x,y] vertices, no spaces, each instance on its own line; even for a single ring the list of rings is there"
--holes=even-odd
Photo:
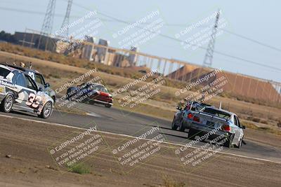
[[[98,29],[96,37],[108,39],[110,41],[110,46],[114,47],[119,47],[118,42],[120,39],[124,39],[124,36],[115,39],[112,37],[112,34],[126,27],[126,24],[112,21],[102,14],[110,15],[113,18],[125,20],[126,22],[136,22],[153,11],[158,10],[158,18],[164,20],[165,23],[161,28],[161,33],[165,36],[175,38],[175,34],[207,18],[220,8],[222,10],[221,18],[227,22],[226,27],[223,27],[223,29],[281,50],[281,1],[277,0],[73,1],[74,4],[72,5],[70,22],[83,17],[89,10],[98,11],[95,18],[100,18],[103,22],[103,26]],[[1,0],[0,29],[11,33],[15,31],[24,32],[25,28],[40,30],[47,4],[48,0]],[[81,6],[84,6],[88,10],[81,8]],[[57,0],[53,31],[60,29],[66,7],[67,1]],[[151,22],[155,21],[153,19],[151,19]],[[86,20],[88,23],[90,21],[91,20]],[[86,22],[84,22],[85,25]],[[204,27],[208,27],[209,25],[214,25],[214,20],[210,20],[195,29],[190,35],[185,34],[185,36],[182,36],[180,39],[188,39],[192,34],[201,32]],[[145,27],[145,25],[141,27]],[[70,32],[73,32],[73,29],[75,28],[70,29]],[[132,34],[138,30],[138,27],[134,27],[128,34]],[[257,43],[229,34],[228,32],[223,32],[221,36],[216,38],[216,51],[259,64],[265,64],[266,66],[273,67],[273,69],[219,55],[218,53],[214,53],[212,67],[281,82],[280,50],[273,50],[272,48],[261,46]],[[202,47],[206,48],[207,43]],[[159,35],[150,39],[147,43],[143,43],[143,45],[140,46],[140,51],[152,55],[185,60],[194,64],[202,64],[206,53],[204,49],[186,50],[181,45],[181,42]]]

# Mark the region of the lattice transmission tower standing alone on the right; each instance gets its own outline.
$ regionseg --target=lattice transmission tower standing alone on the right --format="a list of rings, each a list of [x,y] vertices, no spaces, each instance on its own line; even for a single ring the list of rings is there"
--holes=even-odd
[[[220,16],[220,10],[216,13],[216,22],[214,25],[214,28],[211,33],[211,39],[208,44],[207,53],[204,57],[203,67],[211,67],[211,64],[213,62],[213,54],[214,54],[214,48],[215,48],[215,39],[216,39],[216,32],[218,30],[218,18]]]

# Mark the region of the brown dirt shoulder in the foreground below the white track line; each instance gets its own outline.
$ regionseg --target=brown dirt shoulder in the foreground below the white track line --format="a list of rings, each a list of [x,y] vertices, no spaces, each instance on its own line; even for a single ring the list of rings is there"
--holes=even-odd
[[[112,149],[119,142],[133,139],[101,132],[92,132],[103,138],[99,150],[83,161],[91,172],[69,172],[67,167],[58,166],[49,148],[81,132],[84,130],[0,117],[0,186],[280,186],[281,183],[280,164],[218,153],[200,165],[186,166],[175,155],[178,147],[167,144],[161,144],[161,151],[133,167],[122,165]],[[138,144],[143,142],[140,140]],[[128,147],[128,151],[132,148]]]

